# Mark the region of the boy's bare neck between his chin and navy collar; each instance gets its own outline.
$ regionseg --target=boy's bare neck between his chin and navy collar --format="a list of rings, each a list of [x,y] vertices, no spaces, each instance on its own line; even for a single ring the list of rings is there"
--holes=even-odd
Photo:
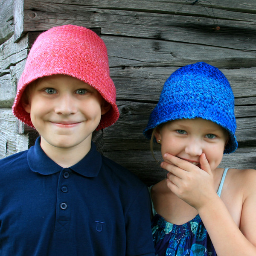
[[[52,159],[55,163],[63,168],[68,168],[75,165],[80,160],[82,160],[85,155],[90,151],[91,148],[91,138],[87,141],[76,145],[72,148],[59,148],[49,145],[44,138],[41,137],[41,148],[44,153]]]

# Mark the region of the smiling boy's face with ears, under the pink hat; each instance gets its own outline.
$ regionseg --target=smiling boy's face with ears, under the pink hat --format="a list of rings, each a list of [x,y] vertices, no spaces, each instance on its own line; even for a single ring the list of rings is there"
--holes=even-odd
[[[109,105],[99,92],[66,75],[47,76],[29,88],[26,112],[41,135],[41,146],[90,148],[91,136]]]

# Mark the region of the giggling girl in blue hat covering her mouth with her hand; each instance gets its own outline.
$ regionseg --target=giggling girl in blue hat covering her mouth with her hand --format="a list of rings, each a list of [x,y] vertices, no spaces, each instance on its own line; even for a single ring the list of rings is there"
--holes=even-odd
[[[255,256],[256,171],[218,168],[237,148],[234,96],[204,62],[176,70],[144,130],[169,173],[150,188],[158,256]]]

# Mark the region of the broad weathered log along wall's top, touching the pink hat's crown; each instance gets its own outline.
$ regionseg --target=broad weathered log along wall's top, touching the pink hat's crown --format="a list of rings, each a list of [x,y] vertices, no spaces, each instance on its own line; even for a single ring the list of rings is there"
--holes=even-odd
[[[253,44],[256,39],[255,17],[250,13],[251,9],[248,9],[248,6],[255,9],[255,3],[248,3],[246,7],[237,5],[233,9],[230,6],[227,8],[228,3],[212,4],[212,9],[207,2],[191,6],[189,2],[183,1],[146,1],[143,8],[141,6],[144,1],[102,1],[95,6],[93,3],[25,0],[24,17],[17,15],[17,20],[21,21],[17,22],[18,33],[15,38],[28,31],[44,31],[52,26],[72,23],[100,27],[105,35],[256,49]],[[248,12],[247,15],[244,12]],[[216,26],[221,29],[216,31]]]

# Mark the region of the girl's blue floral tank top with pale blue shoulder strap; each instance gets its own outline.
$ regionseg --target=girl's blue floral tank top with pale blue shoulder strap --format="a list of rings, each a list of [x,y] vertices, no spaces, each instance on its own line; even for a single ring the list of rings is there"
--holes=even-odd
[[[218,195],[228,168],[224,170]],[[161,215],[152,219],[156,256],[216,256],[212,241],[199,215],[182,225],[167,222]]]

